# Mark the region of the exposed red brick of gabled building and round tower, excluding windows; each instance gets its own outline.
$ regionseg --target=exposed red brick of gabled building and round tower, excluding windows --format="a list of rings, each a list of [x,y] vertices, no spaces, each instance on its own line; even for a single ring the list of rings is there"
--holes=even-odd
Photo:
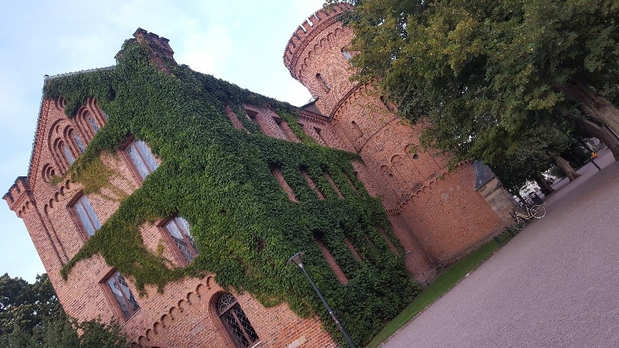
[[[318,11],[310,18],[312,25],[304,22],[304,29],[297,29],[288,43],[286,66],[318,97],[315,106],[327,116],[301,111],[299,123],[306,135],[320,144],[359,153],[364,163],[352,163],[357,178],[371,195],[382,199],[403,246],[408,270],[423,282],[433,278],[436,264],[445,264],[488,238],[500,220],[473,190],[475,178],[470,165],[463,164],[449,173],[445,167],[448,156],[419,148],[422,126],[411,128],[385,107],[370,86],[357,86],[348,80],[348,61],[341,50],[352,32],[336,22],[341,10],[336,6],[335,12]],[[316,78],[318,73],[329,89]],[[19,179],[5,199],[24,220],[68,315],[80,320],[119,317],[130,338],[148,347],[230,345],[230,337],[212,310],[211,302],[221,292],[212,277],[170,283],[163,294],[147,287],[147,296],[137,297],[140,310],[128,320],[102,283],[113,270],[99,255],[79,262],[66,282],[60,278],[63,264],[87,238],[71,209],[82,188],[68,181],[56,186],[48,182],[68,168],[61,144],[68,145],[77,157],[79,149],[72,135],[87,144],[94,136],[89,117],[93,116],[99,126],[105,121],[94,100],[89,100],[73,119],[64,115],[63,104],[62,100],[44,100],[29,177]],[[272,110],[245,107],[265,135],[299,141]],[[242,129],[238,117],[244,115],[230,109],[227,112],[234,126]],[[102,159],[116,173],[110,181],[112,189],[104,188],[88,197],[99,220],[105,222],[118,208],[123,193],[133,192],[140,180],[125,156],[104,154]],[[277,176],[277,171],[274,173]],[[163,257],[171,264],[182,264],[165,231],[156,225],[141,227],[145,245],[152,252],[162,245]],[[130,279],[128,284],[137,296]],[[264,347],[335,346],[317,318],[301,319],[287,305],[264,308],[248,294],[234,295]]]

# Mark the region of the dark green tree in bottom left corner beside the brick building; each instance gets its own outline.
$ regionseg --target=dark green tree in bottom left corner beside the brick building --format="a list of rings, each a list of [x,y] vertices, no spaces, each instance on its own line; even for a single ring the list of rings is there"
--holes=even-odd
[[[47,274],[29,284],[5,273],[0,277],[0,346],[124,348],[128,342],[116,321],[79,323],[66,317]]]

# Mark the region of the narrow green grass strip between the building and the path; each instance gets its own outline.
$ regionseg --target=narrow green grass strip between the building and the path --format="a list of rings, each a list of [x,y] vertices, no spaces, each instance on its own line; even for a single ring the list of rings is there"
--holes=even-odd
[[[500,236],[500,241],[504,239],[505,236]],[[382,341],[387,340],[390,335],[398,331],[398,329],[408,323],[410,319],[414,318],[415,315],[419,314],[419,312],[442,296],[442,294],[448,292],[449,289],[452,289],[452,287],[464,278],[467,273],[486,261],[497,249],[497,243],[495,243],[495,241],[489,241],[481,248],[466,255],[460,261],[452,264],[452,266],[449,266],[445,271],[442,271],[431,285],[428,285],[428,287],[426,287],[426,289],[424,289],[424,291],[422,291],[397,317],[389,321],[389,324],[371,340],[367,347],[378,347]]]

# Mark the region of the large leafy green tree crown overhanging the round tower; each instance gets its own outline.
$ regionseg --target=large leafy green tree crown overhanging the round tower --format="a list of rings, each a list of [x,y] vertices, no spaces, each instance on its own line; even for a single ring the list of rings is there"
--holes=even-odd
[[[619,133],[616,1],[350,2],[354,78],[431,121],[426,144],[456,160],[509,156],[530,124],[565,120],[565,108]]]

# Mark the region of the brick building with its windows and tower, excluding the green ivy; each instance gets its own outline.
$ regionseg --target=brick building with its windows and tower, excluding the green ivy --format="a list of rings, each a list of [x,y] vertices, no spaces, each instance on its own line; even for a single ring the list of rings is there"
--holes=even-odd
[[[342,4],[314,13],[285,47],[285,66],[314,97],[297,109],[298,126],[322,146],[359,155],[359,160],[352,161],[356,178],[343,177],[355,192],[353,181],[360,181],[369,195],[380,197],[391,225],[388,229],[400,245],[391,243],[382,227],[376,227],[378,232],[388,248],[403,258],[410,276],[427,283],[440,268],[502,229],[512,202],[487,172],[485,179],[477,175],[476,182],[469,163],[450,172],[448,156],[419,146],[423,125],[404,123],[385,96],[369,85],[348,80],[350,52],[345,47],[352,32],[339,22],[347,9]],[[149,46],[152,61],[165,71],[162,59],[173,61],[174,53],[167,39],[142,29],[134,36]],[[119,146],[119,156],[100,156],[103,165],[117,174],[110,176],[110,185],[98,194],[86,192],[82,183],[54,179],[69,169],[107,123],[96,98],[87,100],[68,118],[63,98],[44,98],[29,174],[17,178],[4,195],[10,209],[24,220],[68,315],[115,317],[130,338],[144,347],[252,347],[258,342],[264,347],[334,347],[317,316],[300,318],[285,303],[264,307],[248,292],[223,289],[213,274],[169,282],[163,292],[147,285],[146,296],[137,296],[130,278],[96,253],[77,262],[68,280],[63,280],[61,268],[119,209],[122,199],[161,165],[147,142],[128,137]],[[249,104],[243,109],[244,114],[239,114],[225,107],[225,116],[239,132],[247,132],[244,121],[249,120],[264,135],[301,142],[274,109]],[[265,165],[265,170],[270,170],[290,202],[299,200],[280,169]],[[329,199],[315,178],[302,170],[301,175],[320,201]],[[333,197],[345,204],[350,188],[338,187],[327,172],[323,177]],[[158,250],[174,266],[184,266],[199,253],[190,230],[184,218],[172,215],[140,227],[140,234],[149,250]],[[320,238],[316,241],[334,277],[345,286],[349,280],[337,256],[331,255]],[[344,242],[361,262],[364,255],[359,256],[354,243]]]

